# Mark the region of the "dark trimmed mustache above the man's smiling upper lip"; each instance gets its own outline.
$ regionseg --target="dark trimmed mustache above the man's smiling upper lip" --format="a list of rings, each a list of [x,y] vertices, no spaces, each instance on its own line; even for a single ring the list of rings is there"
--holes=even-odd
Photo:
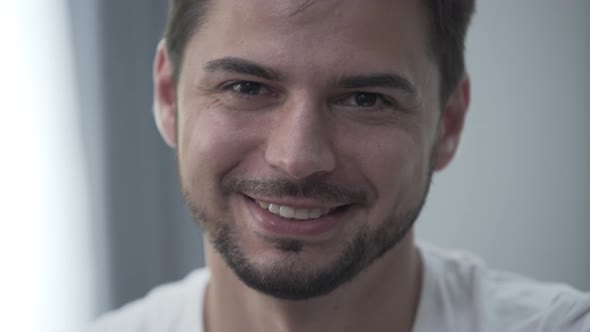
[[[314,178],[293,182],[283,178],[240,179],[224,178],[221,181],[224,193],[241,192],[259,197],[295,197],[322,201],[331,204],[360,204],[368,202],[367,193],[362,190],[344,188]]]

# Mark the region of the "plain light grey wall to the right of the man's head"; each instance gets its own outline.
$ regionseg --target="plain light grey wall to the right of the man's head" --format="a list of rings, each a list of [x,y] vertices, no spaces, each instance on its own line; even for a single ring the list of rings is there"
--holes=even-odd
[[[479,1],[473,103],[419,235],[590,291],[590,1]]]

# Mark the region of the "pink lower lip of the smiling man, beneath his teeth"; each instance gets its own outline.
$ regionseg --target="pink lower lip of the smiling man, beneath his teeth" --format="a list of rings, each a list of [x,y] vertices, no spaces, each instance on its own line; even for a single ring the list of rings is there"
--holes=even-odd
[[[295,220],[286,219],[261,208],[250,198],[244,197],[247,208],[253,219],[253,227],[263,236],[323,238],[335,231],[342,221],[343,214],[348,211],[332,212],[317,219]]]

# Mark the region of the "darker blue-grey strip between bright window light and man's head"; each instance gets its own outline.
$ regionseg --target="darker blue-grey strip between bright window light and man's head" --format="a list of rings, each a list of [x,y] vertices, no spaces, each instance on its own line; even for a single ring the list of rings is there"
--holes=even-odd
[[[118,305],[163,280],[182,277],[202,249],[180,203],[173,151],[160,138],[151,112],[152,59],[166,4],[101,5],[106,219],[112,302]],[[192,256],[186,254],[191,251]]]

